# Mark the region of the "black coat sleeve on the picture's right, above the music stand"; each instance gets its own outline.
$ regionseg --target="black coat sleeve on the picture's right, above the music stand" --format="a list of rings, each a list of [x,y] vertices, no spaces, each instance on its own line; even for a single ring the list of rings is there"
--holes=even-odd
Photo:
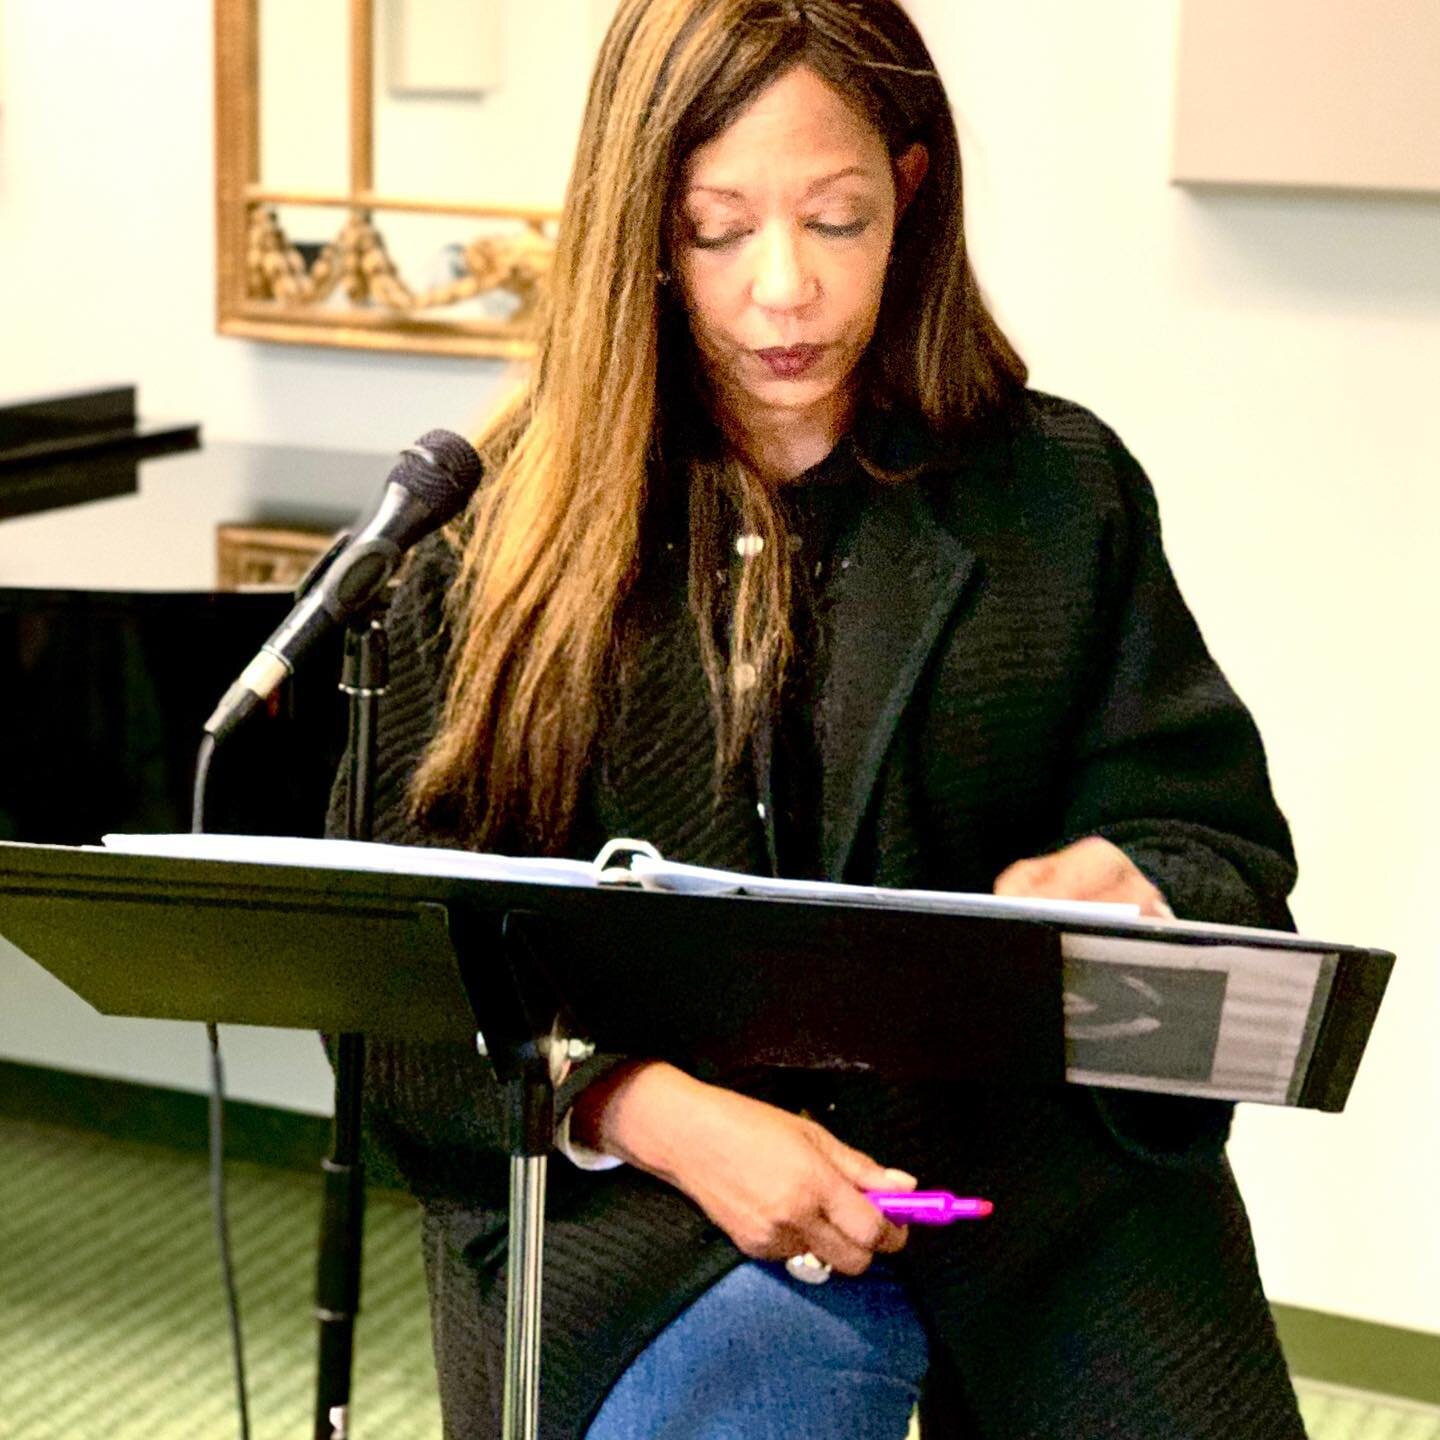
[[[1102,835],[1178,916],[1292,929],[1289,828],[1250,713],[1211,658],[1161,544],[1155,494],[1109,432],[1097,681],[1070,768],[1067,840]]]

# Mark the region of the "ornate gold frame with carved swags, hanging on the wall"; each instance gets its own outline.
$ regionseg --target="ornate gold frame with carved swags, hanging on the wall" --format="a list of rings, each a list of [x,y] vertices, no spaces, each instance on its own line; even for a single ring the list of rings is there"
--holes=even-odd
[[[217,315],[222,334],[287,344],[521,359],[554,253],[556,210],[387,196],[374,187],[374,14],[348,0],[348,187],[266,189],[261,0],[215,0]],[[337,118],[338,120],[338,118]],[[343,216],[301,246],[279,207]],[[455,278],[412,284],[386,246],[393,216],[455,220]],[[469,301],[498,301],[477,314]]]

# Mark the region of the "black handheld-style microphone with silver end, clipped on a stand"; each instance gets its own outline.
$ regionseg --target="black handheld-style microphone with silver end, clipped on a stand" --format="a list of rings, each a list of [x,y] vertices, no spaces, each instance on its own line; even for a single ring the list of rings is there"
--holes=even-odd
[[[324,572],[304,588],[295,608],[240,671],[204,723],[222,740],[294,674],[304,654],[360,613],[395,575],[418,540],[454,520],[480,485],[480,456],[452,431],[428,431],[400,451],[380,501],[363,527],[341,540]]]

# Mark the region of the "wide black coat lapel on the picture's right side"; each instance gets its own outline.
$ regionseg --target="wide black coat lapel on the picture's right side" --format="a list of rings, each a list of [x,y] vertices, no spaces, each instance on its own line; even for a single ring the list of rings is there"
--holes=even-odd
[[[886,750],[975,553],[937,520],[924,487],[906,481],[876,492],[837,564],[816,703],[827,880],[844,878]]]

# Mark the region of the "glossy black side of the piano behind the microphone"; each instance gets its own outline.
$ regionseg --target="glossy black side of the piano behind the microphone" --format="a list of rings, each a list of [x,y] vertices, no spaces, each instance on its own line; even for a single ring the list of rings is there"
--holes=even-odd
[[[204,717],[285,618],[255,595],[0,589],[0,840],[190,828]],[[216,752],[213,831],[318,835],[344,746],[340,636]]]

